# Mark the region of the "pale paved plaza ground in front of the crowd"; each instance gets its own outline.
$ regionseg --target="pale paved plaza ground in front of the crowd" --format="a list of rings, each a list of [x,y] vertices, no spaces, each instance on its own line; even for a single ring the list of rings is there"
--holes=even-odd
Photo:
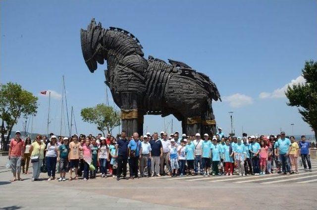
[[[151,177],[116,181],[102,179],[9,182],[11,172],[0,157],[0,208],[15,209],[126,209],[126,210],[316,210],[317,160],[312,172],[290,176]],[[32,168],[30,169],[32,172]],[[59,176],[57,176],[59,177]]]

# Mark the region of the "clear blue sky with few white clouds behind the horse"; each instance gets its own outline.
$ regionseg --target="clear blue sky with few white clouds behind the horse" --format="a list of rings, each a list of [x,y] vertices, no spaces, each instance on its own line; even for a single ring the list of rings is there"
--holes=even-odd
[[[59,135],[62,75],[78,133],[98,132],[83,122],[80,110],[106,103],[106,90],[109,105],[119,109],[104,84],[106,64],[92,74],[82,56],[79,31],[92,17],[105,28],[133,33],[145,58],[183,61],[207,74],[221,95],[222,102],[212,106],[217,126],[226,134],[231,129],[229,111],[237,135],[280,130],[313,134],[297,107],[286,105],[284,90],[289,83],[305,82],[305,60],[317,59],[316,1],[1,0],[0,83],[19,83],[39,97],[38,113],[33,123],[28,120],[29,132],[32,127],[46,133],[48,97],[39,93],[50,90],[50,132]],[[24,121],[19,119],[13,130],[23,130]],[[172,115],[165,120],[146,115],[144,122],[144,132],[181,132]]]

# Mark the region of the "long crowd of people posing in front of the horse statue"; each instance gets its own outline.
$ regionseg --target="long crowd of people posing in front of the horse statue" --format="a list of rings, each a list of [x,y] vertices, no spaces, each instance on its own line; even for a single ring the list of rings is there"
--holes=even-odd
[[[10,142],[9,160],[13,173],[11,181],[20,180],[21,168],[28,174],[29,162],[33,166],[32,181],[47,172],[48,181],[83,180],[100,176],[120,180],[151,176],[247,176],[280,173],[299,173],[298,157],[305,171],[312,171],[311,143],[303,135],[300,140],[287,137],[285,132],[274,136],[226,137],[221,128],[214,136],[200,133],[187,136],[179,132],[155,132],[139,137],[127,136],[125,131],[116,137],[83,134],[50,138],[37,135],[32,143],[15,132]],[[306,164],[307,162],[307,164]],[[127,176],[129,165],[129,177]],[[275,168],[274,168],[275,166]],[[99,173],[98,173],[99,170]],[[74,175],[74,176],[73,176]]]

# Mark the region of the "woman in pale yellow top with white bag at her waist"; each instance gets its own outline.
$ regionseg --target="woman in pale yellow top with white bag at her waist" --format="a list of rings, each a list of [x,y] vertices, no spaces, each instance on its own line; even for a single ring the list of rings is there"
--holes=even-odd
[[[44,150],[45,150],[45,143],[41,141],[42,136],[37,135],[36,141],[31,144],[30,147],[30,154],[31,154],[31,162],[33,165],[33,176],[32,182],[38,180],[40,173],[41,173],[41,166],[44,159]]]

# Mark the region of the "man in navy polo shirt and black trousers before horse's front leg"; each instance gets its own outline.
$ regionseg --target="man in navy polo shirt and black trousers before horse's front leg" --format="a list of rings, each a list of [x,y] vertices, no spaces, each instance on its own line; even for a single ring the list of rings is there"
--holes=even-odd
[[[128,162],[128,144],[129,141],[126,138],[126,132],[121,132],[121,139],[118,139],[115,146],[115,156],[117,158],[117,181],[120,180],[121,173],[123,172],[123,178],[128,179],[127,176],[127,162]]]

